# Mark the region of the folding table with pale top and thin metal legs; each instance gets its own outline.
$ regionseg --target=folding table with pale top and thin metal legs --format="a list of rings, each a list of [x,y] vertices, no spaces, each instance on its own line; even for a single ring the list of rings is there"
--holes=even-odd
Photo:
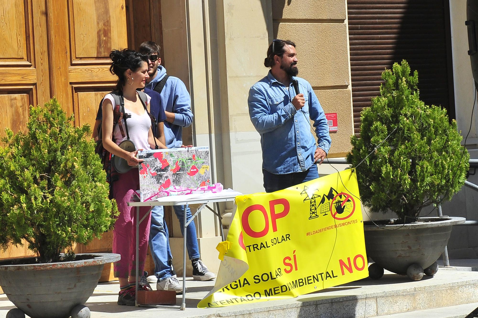
[[[181,303],[181,310],[185,310],[186,308],[186,296],[185,296],[185,289],[186,289],[186,227],[191,223],[196,216],[201,212],[201,210],[204,207],[207,207],[210,211],[212,211],[214,214],[217,215],[219,218],[219,227],[221,230],[221,237],[222,240],[224,241],[224,232],[222,229],[222,217],[219,213],[219,202],[226,202],[226,201],[234,201],[237,195],[240,195],[241,193],[236,192],[236,191],[223,191],[219,193],[214,193],[214,194],[207,194],[207,195],[201,195],[198,196],[197,194],[189,194],[189,195],[177,195],[177,196],[168,196],[168,197],[163,197],[159,198],[156,201],[147,201],[147,202],[128,202],[129,206],[136,207],[136,293],[138,293],[138,277],[139,277],[139,260],[138,260],[138,254],[139,254],[139,248],[140,248],[140,236],[139,236],[139,227],[140,223],[148,216],[149,213],[151,213],[152,208],[157,205],[183,205],[184,208],[186,208],[186,205],[191,205],[191,204],[201,204],[199,208],[197,209],[196,213],[192,215],[192,218],[189,220],[189,222],[186,223],[186,213],[184,213],[184,246],[183,246],[183,301]],[[213,209],[211,209],[209,206],[207,206],[207,203],[217,203],[217,211],[215,212]],[[141,220],[140,218],[140,207],[141,206],[150,206],[151,209],[149,210],[148,213],[146,213]],[[139,222],[138,222],[139,220]],[[135,299],[136,306],[141,306],[140,304],[137,303],[137,298]]]

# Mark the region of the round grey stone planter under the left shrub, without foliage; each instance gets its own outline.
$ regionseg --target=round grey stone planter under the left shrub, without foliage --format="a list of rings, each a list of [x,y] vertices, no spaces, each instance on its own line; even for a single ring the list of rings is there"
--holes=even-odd
[[[20,260],[28,262],[0,261],[0,286],[8,299],[32,318],[67,318],[91,296],[103,266],[120,260],[120,254],[76,254],[72,262],[14,265]]]

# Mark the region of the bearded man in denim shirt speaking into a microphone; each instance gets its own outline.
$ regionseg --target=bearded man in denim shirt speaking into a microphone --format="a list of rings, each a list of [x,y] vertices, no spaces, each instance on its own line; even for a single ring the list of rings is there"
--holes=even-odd
[[[296,64],[295,44],[274,40],[264,61],[271,70],[249,91],[250,120],[261,134],[266,192],[318,178],[315,163],[321,164],[330,149],[324,110],[309,82],[296,77]],[[298,81],[299,92],[295,92],[293,80]],[[309,118],[314,121],[318,147]]]

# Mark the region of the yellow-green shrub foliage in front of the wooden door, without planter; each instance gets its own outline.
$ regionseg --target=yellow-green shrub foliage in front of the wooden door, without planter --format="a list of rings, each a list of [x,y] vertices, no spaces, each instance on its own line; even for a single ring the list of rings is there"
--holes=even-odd
[[[114,223],[116,201],[89,125],[74,127],[73,115],[53,98],[30,106],[28,132],[5,129],[0,147],[0,247],[28,242],[40,262],[72,254]]]

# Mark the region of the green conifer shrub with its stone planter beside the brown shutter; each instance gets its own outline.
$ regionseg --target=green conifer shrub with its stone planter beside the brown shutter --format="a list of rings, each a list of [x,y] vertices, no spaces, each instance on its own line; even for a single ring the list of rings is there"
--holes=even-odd
[[[420,213],[461,189],[469,154],[456,121],[420,100],[418,72],[412,75],[405,60],[386,69],[382,79],[380,95],[360,114],[360,137],[351,137],[347,161],[358,166],[360,196],[369,211],[397,215],[364,223],[367,254],[375,262],[370,277],[380,278],[385,268],[420,280],[424,272],[436,273],[452,225],[465,222]]]

